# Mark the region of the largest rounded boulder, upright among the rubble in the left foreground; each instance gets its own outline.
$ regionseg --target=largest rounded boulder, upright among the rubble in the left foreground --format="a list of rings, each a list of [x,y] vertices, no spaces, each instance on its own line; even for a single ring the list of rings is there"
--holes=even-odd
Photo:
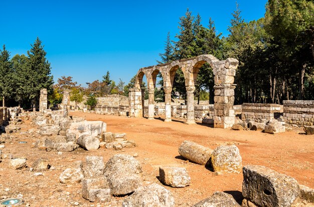
[[[141,184],[142,168],[139,162],[130,155],[112,156],[104,171],[113,195],[131,193]]]

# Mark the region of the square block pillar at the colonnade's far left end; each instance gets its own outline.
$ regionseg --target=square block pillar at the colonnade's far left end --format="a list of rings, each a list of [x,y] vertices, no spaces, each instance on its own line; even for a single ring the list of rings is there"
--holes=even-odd
[[[140,89],[130,88],[128,93],[129,116],[142,116],[142,92]]]

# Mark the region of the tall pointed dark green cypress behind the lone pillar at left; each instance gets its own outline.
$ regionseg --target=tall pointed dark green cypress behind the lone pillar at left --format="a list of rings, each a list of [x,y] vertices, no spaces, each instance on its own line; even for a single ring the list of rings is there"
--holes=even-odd
[[[52,91],[53,76],[51,75],[50,63],[46,59],[46,52],[42,41],[37,37],[34,45],[31,45],[28,54],[28,69],[30,76],[30,93],[29,99],[33,100],[33,103],[38,103],[40,90],[46,88],[49,92]],[[35,106],[35,105],[34,105]]]

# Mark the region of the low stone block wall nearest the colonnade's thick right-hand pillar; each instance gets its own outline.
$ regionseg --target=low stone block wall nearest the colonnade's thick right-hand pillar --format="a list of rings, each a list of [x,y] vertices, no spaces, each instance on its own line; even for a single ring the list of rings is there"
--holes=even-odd
[[[276,119],[283,112],[283,106],[279,104],[244,103],[241,108],[243,121],[245,119],[254,119],[255,121]]]

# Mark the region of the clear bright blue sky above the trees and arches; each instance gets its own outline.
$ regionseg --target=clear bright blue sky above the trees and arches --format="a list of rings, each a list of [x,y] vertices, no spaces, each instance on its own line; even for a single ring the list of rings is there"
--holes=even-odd
[[[237,0],[246,21],[262,18],[266,0]],[[0,45],[11,57],[26,54],[37,37],[45,45],[55,82],[61,76],[86,86],[111,79],[127,84],[141,67],[155,65],[164,52],[168,32],[178,33],[179,18],[187,8],[217,32],[227,28],[236,1],[5,1],[0,0]]]

